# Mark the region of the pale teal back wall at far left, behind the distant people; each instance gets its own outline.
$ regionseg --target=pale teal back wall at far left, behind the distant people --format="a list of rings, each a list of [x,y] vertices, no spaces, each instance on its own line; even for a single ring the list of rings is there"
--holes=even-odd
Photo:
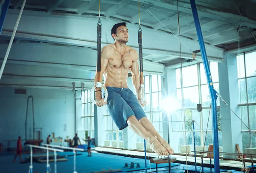
[[[75,99],[71,90],[33,89],[15,94],[15,88],[0,88],[0,141],[25,139],[27,97],[34,98],[35,128],[43,128],[43,140],[52,132],[55,137],[73,137],[75,133]],[[27,138],[33,138],[32,99],[29,99]],[[64,128],[66,127],[66,128]],[[31,134],[29,134],[31,133]],[[15,147],[16,143],[12,142]]]

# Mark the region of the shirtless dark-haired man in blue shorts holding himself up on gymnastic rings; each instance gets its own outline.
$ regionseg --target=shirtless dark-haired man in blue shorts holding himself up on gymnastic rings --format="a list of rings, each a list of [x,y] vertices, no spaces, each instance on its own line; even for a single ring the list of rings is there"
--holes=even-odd
[[[96,88],[96,105],[98,107],[107,105],[119,130],[129,126],[131,130],[148,141],[155,153],[173,154],[172,147],[157,133],[140,106],[145,106],[146,102],[141,102],[139,56],[134,48],[126,45],[129,37],[126,23],[115,24],[111,29],[111,36],[115,43],[105,45],[101,51],[101,74],[105,79],[104,85],[108,91],[108,99],[104,102],[101,89]],[[127,85],[129,69],[131,69],[137,98]]]

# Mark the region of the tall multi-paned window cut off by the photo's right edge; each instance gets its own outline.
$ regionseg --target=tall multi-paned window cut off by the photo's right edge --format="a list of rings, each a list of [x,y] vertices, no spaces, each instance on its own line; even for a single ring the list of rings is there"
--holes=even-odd
[[[241,119],[256,132],[256,51],[237,55]],[[256,148],[256,137],[242,124],[244,148]]]

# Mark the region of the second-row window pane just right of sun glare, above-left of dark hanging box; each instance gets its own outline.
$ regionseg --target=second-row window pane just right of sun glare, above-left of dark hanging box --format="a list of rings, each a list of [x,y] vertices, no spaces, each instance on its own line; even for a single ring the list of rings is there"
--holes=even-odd
[[[184,108],[196,108],[199,102],[198,86],[184,88]]]

